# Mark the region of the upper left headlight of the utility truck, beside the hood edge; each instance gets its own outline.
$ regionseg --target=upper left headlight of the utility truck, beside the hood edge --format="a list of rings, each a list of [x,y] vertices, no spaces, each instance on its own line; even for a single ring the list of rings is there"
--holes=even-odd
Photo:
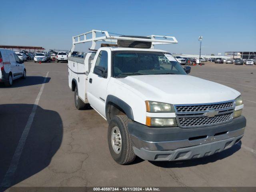
[[[174,112],[172,104],[155,101],[145,101],[147,112]]]

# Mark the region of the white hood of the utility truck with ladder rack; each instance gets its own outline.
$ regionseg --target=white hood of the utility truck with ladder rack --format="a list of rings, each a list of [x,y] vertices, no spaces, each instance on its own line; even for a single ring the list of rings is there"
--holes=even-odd
[[[170,104],[200,104],[234,100],[240,92],[189,75],[140,75],[116,78],[116,83],[144,100]]]

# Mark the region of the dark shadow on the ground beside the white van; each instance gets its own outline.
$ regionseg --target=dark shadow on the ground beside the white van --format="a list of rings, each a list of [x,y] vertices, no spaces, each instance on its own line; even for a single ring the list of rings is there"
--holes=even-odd
[[[19,79],[13,80],[12,86],[8,88],[40,85],[44,82],[44,78],[45,77],[42,77],[42,76],[27,76],[26,79],[19,78]],[[50,79],[51,79],[50,77],[47,77],[45,83],[48,83]],[[4,85],[4,83],[1,83],[0,88],[7,88],[7,87]]]

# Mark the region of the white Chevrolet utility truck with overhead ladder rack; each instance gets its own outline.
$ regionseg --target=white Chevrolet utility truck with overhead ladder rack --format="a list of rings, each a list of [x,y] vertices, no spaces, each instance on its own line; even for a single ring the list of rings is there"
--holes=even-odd
[[[232,147],[244,135],[240,92],[189,76],[190,67],[154,49],[177,43],[175,37],[92,30],[72,40],[68,80],[75,106],[90,105],[108,121],[108,146],[117,163],[128,164],[136,156],[151,161],[200,158]],[[98,41],[111,44],[95,50]],[[85,57],[72,57],[76,44],[86,42],[92,46]]]

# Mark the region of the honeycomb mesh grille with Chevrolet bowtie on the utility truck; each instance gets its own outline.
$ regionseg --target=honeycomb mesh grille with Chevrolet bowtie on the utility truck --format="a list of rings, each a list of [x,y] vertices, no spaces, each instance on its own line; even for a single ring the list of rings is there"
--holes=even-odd
[[[232,121],[235,104],[234,101],[228,101],[212,104],[175,105],[174,107],[178,126],[198,128]]]

